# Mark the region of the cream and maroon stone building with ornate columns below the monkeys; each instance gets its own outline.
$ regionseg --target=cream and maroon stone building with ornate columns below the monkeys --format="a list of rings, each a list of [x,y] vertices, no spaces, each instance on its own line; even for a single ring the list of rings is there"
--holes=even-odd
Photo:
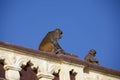
[[[0,42],[0,80],[120,80],[120,71]]]

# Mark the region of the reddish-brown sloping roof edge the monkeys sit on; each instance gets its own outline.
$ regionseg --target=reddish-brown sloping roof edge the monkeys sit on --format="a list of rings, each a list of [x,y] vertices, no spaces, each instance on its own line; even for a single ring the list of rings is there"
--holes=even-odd
[[[18,45],[14,45],[14,44],[10,44],[10,43],[7,43],[7,42],[2,42],[2,41],[0,41],[0,47],[4,47],[4,48],[8,48],[8,49],[14,49],[14,50],[18,50],[18,51],[30,52],[30,53],[33,53],[34,55],[46,56],[47,58],[52,57],[52,59],[54,58],[54,59],[57,59],[57,60],[62,59],[62,60],[65,60],[65,61],[68,61],[68,62],[71,62],[71,63],[81,64],[81,65],[87,66],[87,67],[89,67],[89,69],[92,69],[92,70],[95,70],[95,71],[100,71],[100,72],[103,72],[103,73],[106,73],[106,74],[111,74],[111,75],[115,75],[115,76],[120,77],[120,71],[119,70],[106,68],[106,67],[103,67],[103,66],[100,66],[100,65],[93,65],[93,64],[90,64],[90,63],[88,63],[84,60],[79,59],[78,57],[74,57],[74,56],[72,57],[72,56],[63,55],[63,54],[55,55],[55,54],[51,54],[51,53],[48,53],[48,52],[34,50],[34,49],[31,49],[31,48],[26,48],[26,47],[23,47],[23,46],[18,46]]]

